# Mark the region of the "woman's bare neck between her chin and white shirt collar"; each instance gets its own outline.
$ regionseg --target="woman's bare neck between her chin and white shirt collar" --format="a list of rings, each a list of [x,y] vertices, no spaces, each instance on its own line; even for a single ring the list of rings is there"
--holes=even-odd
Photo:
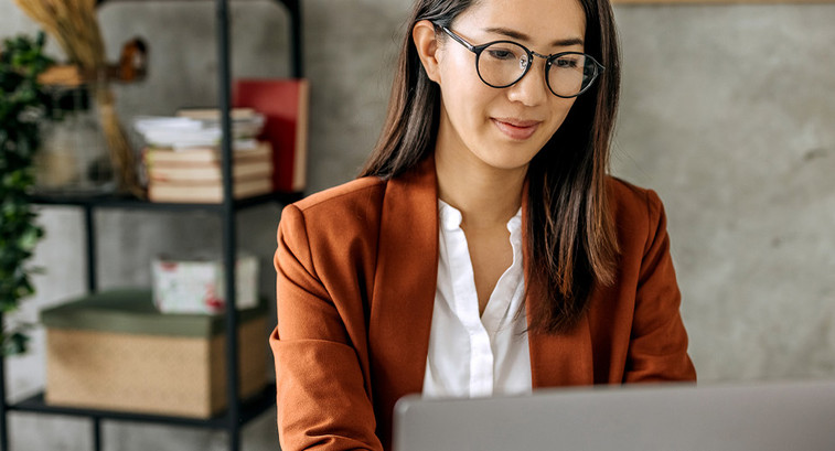
[[[473,160],[436,149],[438,196],[461,212],[464,229],[504,227],[522,205],[527,167],[505,170]]]

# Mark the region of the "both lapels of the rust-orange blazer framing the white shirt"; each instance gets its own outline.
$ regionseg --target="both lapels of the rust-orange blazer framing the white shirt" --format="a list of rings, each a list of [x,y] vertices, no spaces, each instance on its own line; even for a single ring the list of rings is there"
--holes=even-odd
[[[527,185],[523,191],[522,229],[527,243]],[[375,383],[392,395],[420,393],[429,348],[438,277],[438,183],[433,157],[392,179],[383,201],[370,343],[374,346]],[[529,255],[524,247],[527,268]],[[525,278],[526,318],[543,302],[546,289]],[[528,334],[534,388],[593,383],[588,315],[560,335]]]

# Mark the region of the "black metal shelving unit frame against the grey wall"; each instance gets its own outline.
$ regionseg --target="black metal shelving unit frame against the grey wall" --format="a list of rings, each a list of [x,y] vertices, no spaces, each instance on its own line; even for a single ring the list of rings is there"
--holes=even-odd
[[[97,0],[97,4],[115,1],[165,1],[165,0]],[[301,60],[301,4],[300,0],[275,0],[282,4],[290,19],[290,42],[291,42],[291,75],[293,77],[302,76]],[[256,197],[235,200],[232,195],[232,122],[229,119],[231,108],[231,67],[229,67],[229,11],[228,0],[214,0],[215,19],[217,33],[217,61],[218,61],[218,107],[222,111],[222,162],[223,162],[223,193],[224,202],[220,204],[173,204],[173,203],[151,203],[135,197],[118,195],[100,196],[35,196],[33,202],[41,205],[63,205],[79,207],[84,212],[84,229],[86,240],[86,267],[87,267],[87,289],[95,292],[98,288],[96,279],[96,225],[94,212],[97,210],[144,210],[144,211],[206,211],[217,214],[222,218],[222,251],[224,262],[224,276],[226,278],[225,296],[229,300],[229,305],[235,305],[235,257],[236,257],[236,229],[235,215],[238,211],[249,208],[267,203],[287,204],[301,198],[301,193],[271,193]],[[228,436],[228,449],[238,451],[240,449],[240,430],[242,428],[275,406],[276,389],[275,385],[268,385],[261,393],[249,399],[239,399],[237,387],[239,380],[238,374],[238,346],[237,334],[228,333],[237,330],[237,311],[236,309],[225,310],[225,330],[226,333],[226,411],[210,419],[193,419],[183,417],[157,416],[130,414],[111,410],[78,409],[46,405],[43,393],[39,393],[30,398],[18,402],[8,402],[6,394],[6,362],[0,355],[0,451],[9,450],[9,434],[7,416],[11,411],[36,412],[58,416],[72,416],[89,418],[93,426],[93,449],[101,450],[101,420],[114,421],[136,421],[164,423],[171,426],[185,426],[195,428],[205,428],[213,430],[225,430]],[[2,324],[2,312],[0,312],[0,324]]]

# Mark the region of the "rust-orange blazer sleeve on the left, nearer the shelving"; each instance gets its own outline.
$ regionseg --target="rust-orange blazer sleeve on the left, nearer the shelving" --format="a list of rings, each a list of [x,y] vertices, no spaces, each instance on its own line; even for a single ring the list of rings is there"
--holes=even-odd
[[[270,346],[281,449],[382,451],[356,350],[317,273],[297,206],[285,207],[277,239],[278,325]]]

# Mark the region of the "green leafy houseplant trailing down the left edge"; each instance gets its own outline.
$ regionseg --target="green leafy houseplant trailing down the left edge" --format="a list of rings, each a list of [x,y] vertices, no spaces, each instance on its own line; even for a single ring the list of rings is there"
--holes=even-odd
[[[30,202],[33,159],[49,97],[38,83],[52,61],[43,54],[45,36],[6,39],[0,46],[0,314],[14,311],[34,293],[25,266],[43,229]],[[0,316],[1,318],[1,316]],[[2,352],[25,351],[24,326],[3,326]]]

